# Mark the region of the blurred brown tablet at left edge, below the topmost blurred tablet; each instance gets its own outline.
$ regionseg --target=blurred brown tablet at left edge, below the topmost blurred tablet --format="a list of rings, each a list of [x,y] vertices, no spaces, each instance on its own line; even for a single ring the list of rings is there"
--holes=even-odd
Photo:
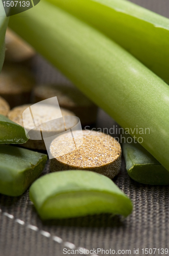
[[[34,77],[27,69],[18,65],[4,65],[0,74],[0,95],[11,108],[29,103],[34,84]]]

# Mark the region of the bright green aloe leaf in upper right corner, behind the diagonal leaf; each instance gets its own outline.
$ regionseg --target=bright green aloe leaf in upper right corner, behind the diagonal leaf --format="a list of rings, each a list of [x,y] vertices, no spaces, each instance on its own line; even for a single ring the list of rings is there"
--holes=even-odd
[[[169,19],[125,0],[48,0],[96,27],[169,84]]]

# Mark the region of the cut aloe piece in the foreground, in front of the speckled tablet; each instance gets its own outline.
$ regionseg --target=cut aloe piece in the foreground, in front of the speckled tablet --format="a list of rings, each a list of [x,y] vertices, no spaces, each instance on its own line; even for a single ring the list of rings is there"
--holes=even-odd
[[[87,170],[65,170],[38,179],[30,198],[42,219],[72,218],[103,212],[128,216],[130,199],[109,178]]]

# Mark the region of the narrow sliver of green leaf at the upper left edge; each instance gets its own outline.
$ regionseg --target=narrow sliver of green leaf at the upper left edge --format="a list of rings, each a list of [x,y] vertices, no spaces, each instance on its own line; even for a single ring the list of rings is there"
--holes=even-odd
[[[5,58],[5,33],[9,18],[7,18],[2,1],[0,1],[0,72]]]

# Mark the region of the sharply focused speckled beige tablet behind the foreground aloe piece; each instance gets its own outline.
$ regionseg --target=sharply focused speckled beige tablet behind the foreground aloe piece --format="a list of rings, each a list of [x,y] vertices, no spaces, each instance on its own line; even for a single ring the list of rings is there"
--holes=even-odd
[[[76,131],[73,136],[77,141],[81,133]],[[67,148],[72,151],[64,154]],[[51,142],[50,154],[53,157],[50,159],[52,172],[85,169],[93,170],[112,179],[119,173],[122,151],[115,138],[104,133],[83,131],[83,143],[76,150],[73,150],[71,138],[63,134]]]

